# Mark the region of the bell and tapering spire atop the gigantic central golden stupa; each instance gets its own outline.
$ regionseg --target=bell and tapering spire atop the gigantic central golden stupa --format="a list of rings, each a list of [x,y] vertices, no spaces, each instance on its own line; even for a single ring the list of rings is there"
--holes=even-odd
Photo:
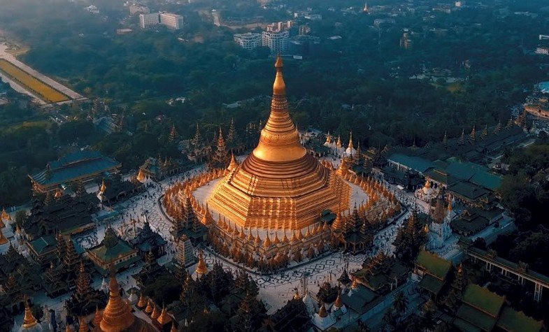
[[[299,142],[299,133],[290,119],[282,67],[282,58],[277,57],[271,114],[261,131],[259,143],[253,150],[254,156],[264,161],[294,161],[307,153],[305,147]]]

